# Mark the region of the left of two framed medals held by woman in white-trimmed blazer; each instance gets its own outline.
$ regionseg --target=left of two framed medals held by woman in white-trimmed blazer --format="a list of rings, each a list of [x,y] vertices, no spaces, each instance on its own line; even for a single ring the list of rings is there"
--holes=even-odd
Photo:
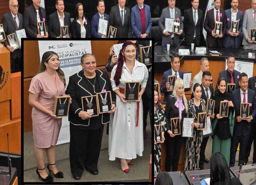
[[[82,108],[83,111],[86,111],[94,116],[98,116],[98,101],[96,95],[93,96],[83,96],[82,99]]]

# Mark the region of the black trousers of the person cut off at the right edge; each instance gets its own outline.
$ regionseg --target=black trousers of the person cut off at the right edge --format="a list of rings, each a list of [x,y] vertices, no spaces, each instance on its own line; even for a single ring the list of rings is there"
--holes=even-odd
[[[256,163],[256,126],[255,124],[256,124],[256,120],[252,120],[251,133],[248,139],[247,147],[245,149],[245,163],[248,162],[248,157],[250,156],[252,142],[253,142],[252,162]]]

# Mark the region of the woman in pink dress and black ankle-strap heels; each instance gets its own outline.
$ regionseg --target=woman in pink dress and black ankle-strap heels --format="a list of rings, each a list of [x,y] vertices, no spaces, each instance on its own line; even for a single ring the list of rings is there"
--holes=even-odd
[[[53,51],[42,56],[39,72],[32,78],[29,88],[29,104],[32,109],[34,152],[37,163],[36,173],[42,181],[53,182],[44,165],[44,154],[48,158],[47,169],[57,178],[63,173],[55,166],[55,145],[61,127],[61,118],[53,114],[56,96],[65,95],[65,75],[59,68],[59,57]]]

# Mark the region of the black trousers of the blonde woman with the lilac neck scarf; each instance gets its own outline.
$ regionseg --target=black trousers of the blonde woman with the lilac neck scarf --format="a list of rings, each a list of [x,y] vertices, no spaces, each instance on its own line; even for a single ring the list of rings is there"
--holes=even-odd
[[[173,172],[178,171],[183,138],[181,135],[170,137],[167,132],[164,133],[164,138],[166,142],[165,171],[170,172],[171,167]]]

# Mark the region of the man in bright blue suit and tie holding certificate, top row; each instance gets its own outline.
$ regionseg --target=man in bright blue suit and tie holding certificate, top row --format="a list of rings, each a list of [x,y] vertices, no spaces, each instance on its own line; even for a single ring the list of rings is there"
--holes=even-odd
[[[105,12],[104,0],[98,0],[97,10],[98,10],[98,12],[92,18],[92,37],[106,38],[107,35],[99,35],[98,34],[99,19],[107,20],[108,21],[108,29],[109,29],[109,15],[104,13]],[[107,29],[107,31],[108,31],[108,29]]]

